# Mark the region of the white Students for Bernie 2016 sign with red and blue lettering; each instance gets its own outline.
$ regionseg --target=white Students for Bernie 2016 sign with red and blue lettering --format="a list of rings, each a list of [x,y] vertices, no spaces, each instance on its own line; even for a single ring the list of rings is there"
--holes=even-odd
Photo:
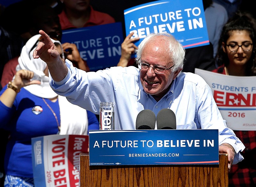
[[[227,76],[195,68],[212,89],[220,113],[232,130],[256,130],[256,76]]]

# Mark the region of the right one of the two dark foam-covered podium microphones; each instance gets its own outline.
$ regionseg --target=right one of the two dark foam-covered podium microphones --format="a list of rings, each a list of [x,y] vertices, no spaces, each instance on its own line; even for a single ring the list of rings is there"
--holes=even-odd
[[[176,129],[176,116],[169,108],[160,110],[156,116],[157,129]]]

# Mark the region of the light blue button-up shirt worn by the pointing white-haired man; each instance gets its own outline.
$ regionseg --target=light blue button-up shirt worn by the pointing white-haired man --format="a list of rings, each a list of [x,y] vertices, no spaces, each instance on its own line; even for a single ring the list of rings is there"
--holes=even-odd
[[[169,108],[176,115],[177,129],[218,129],[219,144],[229,143],[236,153],[245,148],[223,120],[210,86],[196,74],[181,72],[157,102],[143,90],[136,67],[85,72],[74,68],[68,60],[66,65],[68,75],[62,81],[54,82],[50,76],[52,89],[95,114],[99,114],[100,102],[114,102],[115,129],[136,129],[137,115],[144,109],[152,110],[157,116],[161,109]],[[242,159],[239,153],[233,163]]]

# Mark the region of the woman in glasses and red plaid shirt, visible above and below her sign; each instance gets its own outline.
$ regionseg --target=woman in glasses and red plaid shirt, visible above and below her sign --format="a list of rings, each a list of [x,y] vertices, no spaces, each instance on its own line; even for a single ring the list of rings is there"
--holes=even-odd
[[[223,27],[213,72],[229,76],[256,76],[256,20],[249,13],[237,12]],[[256,131],[234,131],[246,147],[244,160],[232,165],[229,187],[256,186]]]

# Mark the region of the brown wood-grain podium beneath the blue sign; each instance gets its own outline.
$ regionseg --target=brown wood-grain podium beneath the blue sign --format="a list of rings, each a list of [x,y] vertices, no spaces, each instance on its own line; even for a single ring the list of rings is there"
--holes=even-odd
[[[117,165],[89,166],[89,155],[80,154],[80,187],[225,187],[228,154],[219,154],[219,165]]]

